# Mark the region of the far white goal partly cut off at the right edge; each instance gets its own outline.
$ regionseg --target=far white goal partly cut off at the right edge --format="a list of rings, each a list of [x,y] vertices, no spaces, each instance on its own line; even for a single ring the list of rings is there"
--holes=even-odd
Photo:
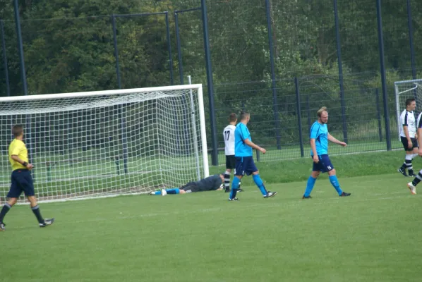
[[[422,111],[422,79],[396,81],[394,82],[394,92],[396,94],[397,132],[400,132],[400,114],[406,109],[406,99],[416,99],[416,118],[417,114]]]

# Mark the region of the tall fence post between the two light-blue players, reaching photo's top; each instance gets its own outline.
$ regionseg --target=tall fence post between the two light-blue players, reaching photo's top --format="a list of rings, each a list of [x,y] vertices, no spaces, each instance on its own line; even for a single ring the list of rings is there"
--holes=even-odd
[[[265,13],[267,15],[267,30],[268,30],[268,44],[270,45],[270,65],[271,65],[271,83],[272,83],[272,110],[274,111],[275,120],[275,133],[277,138],[277,149],[282,149],[280,137],[280,121],[277,103],[277,90],[275,82],[275,66],[274,66],[274,44],[272,43],[272,30],[271,30],[271,14],[270,14],[270,0],[265,0]]]

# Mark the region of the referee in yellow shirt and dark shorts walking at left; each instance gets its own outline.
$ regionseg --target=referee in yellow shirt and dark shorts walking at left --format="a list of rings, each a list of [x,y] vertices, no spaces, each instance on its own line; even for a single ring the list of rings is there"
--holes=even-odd
[[[40,227],[49,226],[54,222],[54,219],[44,219],[41,216],[40,207],[38,207],[37,197],[35,197],[34,185],[32,183],[31,170],[34,167],[28,162],[28,149],[26,149],[23,142],[23,126],[14,125],[12,134],[15,139],[8,147],[8,159],[12,166],[11,188],[8,191],[7,197],[9,200],[4,204],[0,212],[0,231],[5,231],[6,224],[4,224],[4,216],[13,207],[22,192],[28,197],[30,207],[34,213]]]

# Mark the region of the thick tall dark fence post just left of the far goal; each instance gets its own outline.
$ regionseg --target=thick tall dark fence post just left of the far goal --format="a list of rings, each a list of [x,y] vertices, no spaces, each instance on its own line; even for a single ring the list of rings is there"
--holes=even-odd
[[[382,104],[384,106],[384,120],[385,120],[385,140],[387,141],[387,151],[391,151],[390,114],[388,112],[387,78],[385,77],[385,59],[384,59],[385,54],[384,54],[384,39],[382,36],[381,0],[377,0],[377,23],[378,23],[378,44],[380,47]]]

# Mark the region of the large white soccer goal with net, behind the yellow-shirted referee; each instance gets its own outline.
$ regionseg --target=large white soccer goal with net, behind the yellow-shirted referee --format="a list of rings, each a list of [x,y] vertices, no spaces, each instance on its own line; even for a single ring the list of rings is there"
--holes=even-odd
[[[1,202],[14,124],[24,125],[44,202],[140,194],[209,175],[202,85],[0,98]]]

